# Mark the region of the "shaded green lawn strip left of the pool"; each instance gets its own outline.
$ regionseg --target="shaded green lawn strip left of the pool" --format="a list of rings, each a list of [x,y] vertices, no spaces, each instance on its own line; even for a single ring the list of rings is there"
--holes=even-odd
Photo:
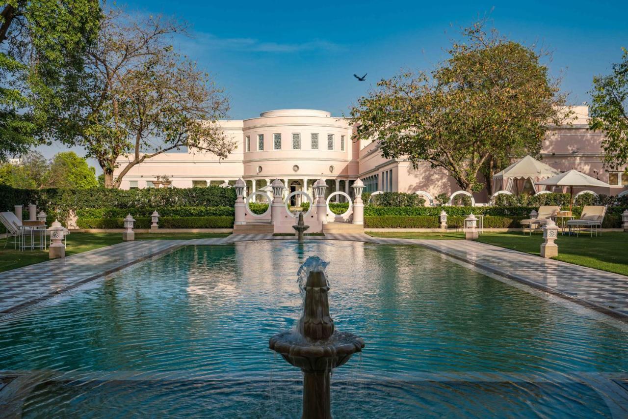
[[[135,235],[135,240],[188,240],[190,238],[227,237],[229,233],[146,233]],[[122,233],[72,233],[68,235],[68,246],[65,255],[74,255],[122,242]],[[48,250],[13,250],[13,243],[4,246],[0,239],[0,272],[18,267],[36,264],[48,260]]]

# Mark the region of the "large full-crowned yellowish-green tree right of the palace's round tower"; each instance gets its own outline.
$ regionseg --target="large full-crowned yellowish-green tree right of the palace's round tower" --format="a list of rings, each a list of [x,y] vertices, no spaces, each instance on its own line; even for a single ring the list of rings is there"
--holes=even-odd
[[[405,156],[415,169],[441,167],[468,192],[482,189],[478,174],[491,159],[538,154],[548,123],[569,115],[565,96],[540,63],[547,53],[484,24],[463,29],[430,73],[379,81],[350,111],[354,140],[376,140],[384,157]]]

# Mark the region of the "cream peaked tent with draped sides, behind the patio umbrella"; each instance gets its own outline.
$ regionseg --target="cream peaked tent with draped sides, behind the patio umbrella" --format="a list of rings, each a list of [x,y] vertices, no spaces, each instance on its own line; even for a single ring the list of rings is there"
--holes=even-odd
[[[527,179],[532,183],[534,192],[541,192],[545,189],[539,181],[548,177],[560,174],[559,170],[539,162],[531,155],[526,155],[518,162],[506,167],[499,173],[493,175],[493,193],[497,191],[521,192]]]

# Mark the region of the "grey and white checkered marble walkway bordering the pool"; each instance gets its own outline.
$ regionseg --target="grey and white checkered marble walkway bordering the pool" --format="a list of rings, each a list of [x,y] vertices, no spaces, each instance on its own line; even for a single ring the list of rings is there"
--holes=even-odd
[[[0,316],[75,288],[184,245],[217,245],[248,240],[293,240],[289,236],[237,234],[193,240],[139,240],[50,260],[0,273]],[[306,240],[352,240],[421,245],[516,281],[628,320],[628,277],[558,260],[467,240],[376,238],[365,234],[328,234]]]

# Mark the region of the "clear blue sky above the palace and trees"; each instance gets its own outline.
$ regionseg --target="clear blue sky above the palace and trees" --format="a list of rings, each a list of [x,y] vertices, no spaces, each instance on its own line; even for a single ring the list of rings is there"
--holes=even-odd
[[[458,28],[489,14],[512,40],[553,51],[570,103],[588,101],[595,74],[628,48],[627,1],[165,1],[127,0],[129,11],[174,14],[192,25],[178,47],[214,75],[230,118],[281,108],[342,115],[377,80],[430,70]],[[358,82],[353,74],[368,73]],[[45,150],[46,157],[61,147]]]

